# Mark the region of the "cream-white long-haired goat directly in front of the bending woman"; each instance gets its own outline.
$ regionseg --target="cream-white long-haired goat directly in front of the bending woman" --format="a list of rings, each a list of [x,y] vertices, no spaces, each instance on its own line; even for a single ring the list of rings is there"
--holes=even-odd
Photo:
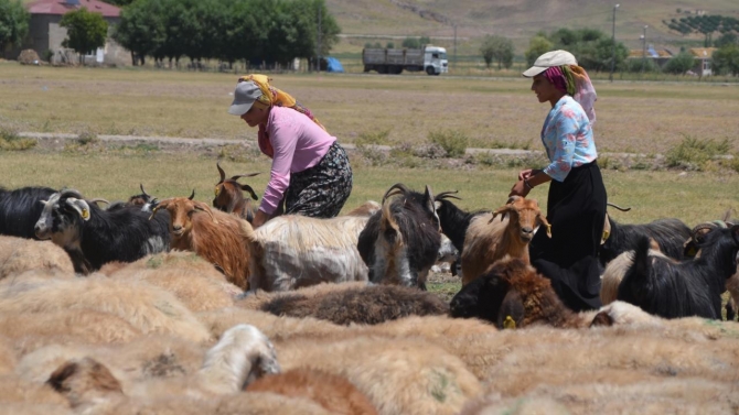
[[[368,218],[286,215],[254,230],[243,221],[251,255],[250,291],[287,291],[322,282],[367,281],[357,238]]]

